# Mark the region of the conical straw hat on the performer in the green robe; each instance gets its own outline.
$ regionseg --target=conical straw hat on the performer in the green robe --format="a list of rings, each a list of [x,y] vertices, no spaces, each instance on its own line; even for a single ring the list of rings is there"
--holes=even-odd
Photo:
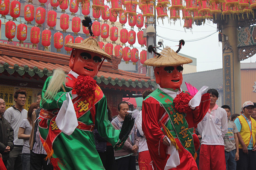
[[[67,43],[65,44],[65,47],[70,47],[70,48],[76,48],[76,49],[81,49],[85,51],[91,51],[93,53],[102,55],[105,59],[112,59],[110,55],[108,55],[105,51],[103,51],[99,47],[99,42],[93,37],[89,37],[85,40],[83,40],[80,43]]]

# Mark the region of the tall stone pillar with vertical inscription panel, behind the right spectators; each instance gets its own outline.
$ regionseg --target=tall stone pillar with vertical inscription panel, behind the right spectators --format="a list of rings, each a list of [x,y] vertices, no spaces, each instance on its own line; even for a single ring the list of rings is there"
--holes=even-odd
[[[225,35],[222,37],[224,105],[230,106],[232,114],[240,114],[241,111],[241,71],[237,48],[237,27],[237,20],[232,17],[222,25],[222,34]]]

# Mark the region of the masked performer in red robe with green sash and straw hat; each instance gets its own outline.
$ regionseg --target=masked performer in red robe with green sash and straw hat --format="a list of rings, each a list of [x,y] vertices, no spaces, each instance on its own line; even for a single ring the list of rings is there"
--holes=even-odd
[[[187,91],[181,90],[182,65],[191,63],[191,59],[168,46],[157,55],[144,62],[154,66],[160,85],[144,99],[142,107],[142,129],[152,166],[155,170],[198,170],[194,156],[199,139],[194,127],[209,109],[209,94],[201,95],[204,91],[201,89],[192,99]]]

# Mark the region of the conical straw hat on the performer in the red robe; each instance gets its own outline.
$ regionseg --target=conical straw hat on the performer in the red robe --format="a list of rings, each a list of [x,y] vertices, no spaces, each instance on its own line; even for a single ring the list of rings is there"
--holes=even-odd
[[[161,67],[161,66],[173,66],[183,65],[192,62],[192,59],[178,55],[169,46],[166,46],[161,52],[159,57],[147,59],[144,64],[149,66]]]

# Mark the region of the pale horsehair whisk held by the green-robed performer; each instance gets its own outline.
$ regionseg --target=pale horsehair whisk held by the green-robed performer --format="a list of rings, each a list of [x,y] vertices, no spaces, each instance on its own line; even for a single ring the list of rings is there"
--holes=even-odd
[[[61,86],[66,81],[66,75],[63,70],[57,68],[53,71],[52,79],[49,82],[49,85],[44,93],[44,99],[42,104],[44,104],[48,99],[52,100],[57,93],[60,91]]]

